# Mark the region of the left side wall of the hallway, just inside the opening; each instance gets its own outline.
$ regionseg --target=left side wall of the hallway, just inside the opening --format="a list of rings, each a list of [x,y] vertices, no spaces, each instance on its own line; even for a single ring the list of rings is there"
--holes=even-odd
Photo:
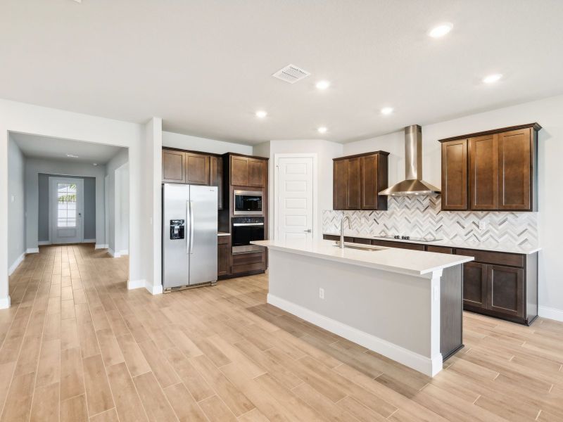
[[[8,267],[15,270],[25,253],[25,157],[18,145],[8,143]]]

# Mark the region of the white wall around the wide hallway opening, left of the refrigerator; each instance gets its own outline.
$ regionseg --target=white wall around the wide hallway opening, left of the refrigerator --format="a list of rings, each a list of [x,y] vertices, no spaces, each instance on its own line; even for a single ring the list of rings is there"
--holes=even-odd
[[[155,273],[147,273],[145,262],[160,254],[160,245],[148,244],[145,235],[153,231],[151,219],[155,207],[160,209],[160,200],[153,207],[155,181],[160,185],[160,165],[146,166],[150,148],[151,160],[157,158],[154,151],[162,148],[162,137],[148,136],[146,127],[154,127],[153,120],[147,124],[121,122],[103,117],[71,113],[54,108],[32,106],[15,101],[0,100],[0,307],[9,306],[8,296],[8,131],[23,132],[55,138],[103,143],[129,148],[129,219],[131,224],[129,245],[129,288],[152,286]],[[157,132],[158,132],[157,125]],[[148,174],[148,172],[153,172]],[[149,199],[147,199],[149,198]],[[150,202],[149,210],[144,210]],[[160,211],[157,216],[160,219]],[[160,221],[157,219],[157,221]],[[103,225],[102,225],[103,227]],[[103,231],[102,231],[103,233]],[[160,283],[160,276],[158,276]]]

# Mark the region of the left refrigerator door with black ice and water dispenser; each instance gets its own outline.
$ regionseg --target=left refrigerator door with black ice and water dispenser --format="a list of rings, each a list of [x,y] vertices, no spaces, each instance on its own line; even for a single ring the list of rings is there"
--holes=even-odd
[[[163,288],[189,284],[189,185],[163,185]]]

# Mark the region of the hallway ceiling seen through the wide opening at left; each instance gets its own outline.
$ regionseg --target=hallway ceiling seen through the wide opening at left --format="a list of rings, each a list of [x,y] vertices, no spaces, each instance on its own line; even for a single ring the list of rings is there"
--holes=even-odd
[[[49,138],[30,134],[10,132],[11,138],[18,144],[23,155],[30,158],[48,158],[68,162],[96,162],[103,165],[113,158],[122,148],[100,143],[72,141],[70,139]],[[68,157],[77,155],[78,158]]]

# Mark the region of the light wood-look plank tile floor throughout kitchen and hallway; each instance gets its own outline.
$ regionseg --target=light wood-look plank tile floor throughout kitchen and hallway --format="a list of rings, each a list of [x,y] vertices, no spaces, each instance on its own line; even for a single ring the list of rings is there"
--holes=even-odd
[[[265,303],[267,276],[151,296],[127,257],[41,248],[0,311],[1,421],[563,421],[563,324],[464,316],[434,379]]]

